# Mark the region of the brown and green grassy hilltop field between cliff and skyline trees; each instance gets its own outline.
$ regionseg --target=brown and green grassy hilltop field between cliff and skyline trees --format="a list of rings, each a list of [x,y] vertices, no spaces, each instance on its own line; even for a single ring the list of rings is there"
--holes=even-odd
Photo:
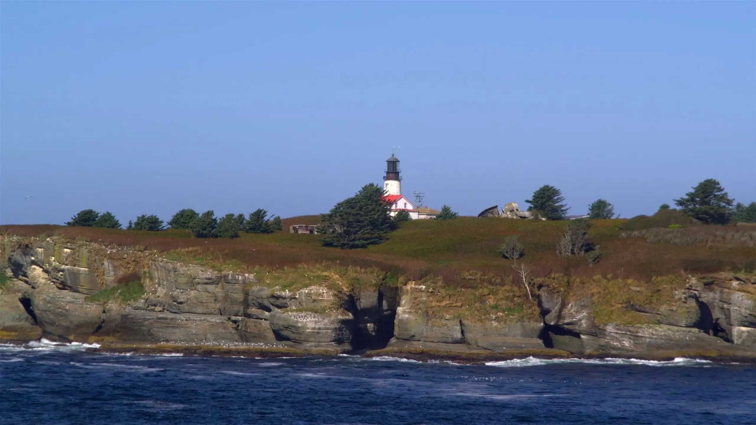
[[[126,231],[57,225],[5,225],[0,226],[0,232],[23,237],[58,235],[105,245],[139,247],[214,268],[274,270],[327,263],[375,267],[410,279],[435,276],[443,278],[446,284],[461,286],[470,281],[470,272],[482,277],[512,276],[512,262],[502,259],[496,250],[505,237],[514,234],[520,235],[525,246],[525,256],[518,262],[532,269],[532,278],[562,274],[575,278],[606,276],[650,281],[658,276],[756,269],[756,227],[751,226],[693,224],[674,230],[639,229],[625,219],[593,220],[591,240],[600,247],[603,259],[590,266],[584,256],[556,255],[556,242],[567,224],[564,221],[472,217],[440,222],[420,220],[404,223],[383,244],[364,250],[326,248],[320,244],[320,235],[288,232],[289,225],[318,221],[318,216],[284,219],[284,231],[242,234],[233,240],[197,239],[187,231],[176,230]]]

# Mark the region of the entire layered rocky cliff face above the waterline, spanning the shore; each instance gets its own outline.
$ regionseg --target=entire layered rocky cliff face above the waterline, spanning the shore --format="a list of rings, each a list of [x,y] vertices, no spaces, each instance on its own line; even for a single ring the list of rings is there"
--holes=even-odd
[[[340,351],[556,348],[579,355],[756,353],[756,281],[733,275],[652,282],[543,279],[521,287],[302,269],[220,272],[140,250],[3,237],[0,340],[223,343]],[[4,267],[5,268],[5,267]],[[88,298],[141,277],[128,302]],[[97,296],[94,297],[98,299]],[[517,305],[515,305],[517,304]]]

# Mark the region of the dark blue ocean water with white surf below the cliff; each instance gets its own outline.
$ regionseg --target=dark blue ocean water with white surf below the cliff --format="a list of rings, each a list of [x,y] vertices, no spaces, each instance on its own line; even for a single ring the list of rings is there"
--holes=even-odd
[[[756,423],[756,368],[105,355],[0,345],[0,423]]]

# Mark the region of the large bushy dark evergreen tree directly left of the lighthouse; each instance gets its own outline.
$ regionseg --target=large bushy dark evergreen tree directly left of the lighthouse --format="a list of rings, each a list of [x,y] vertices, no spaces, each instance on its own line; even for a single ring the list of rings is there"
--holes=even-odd
[[[330,213],[321,214],[321,231],[325,247],[342,250],[380,244],[384,235],[394,230],[389,215],[391,205],[383,199],[383,188],[365,185],[355,196],[337,203]]]

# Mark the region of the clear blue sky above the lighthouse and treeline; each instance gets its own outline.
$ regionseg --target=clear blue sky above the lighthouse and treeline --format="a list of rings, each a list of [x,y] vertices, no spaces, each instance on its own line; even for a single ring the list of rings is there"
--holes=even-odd
[[[3,2],[0,223],[756,200],[754,2]],[[33,198],[24,200],[26,195]]]

